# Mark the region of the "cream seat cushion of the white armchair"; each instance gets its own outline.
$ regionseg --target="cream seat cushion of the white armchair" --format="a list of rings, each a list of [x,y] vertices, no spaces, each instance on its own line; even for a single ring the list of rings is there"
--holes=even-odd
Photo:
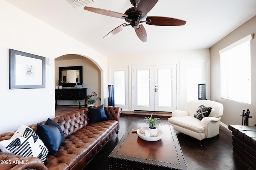
[[[205,130],[204,126],[200,124],[200,120],[192,116],[170,117],[168,118],[168,122],[172,125],[177,125],[196,133],[203,133]]]

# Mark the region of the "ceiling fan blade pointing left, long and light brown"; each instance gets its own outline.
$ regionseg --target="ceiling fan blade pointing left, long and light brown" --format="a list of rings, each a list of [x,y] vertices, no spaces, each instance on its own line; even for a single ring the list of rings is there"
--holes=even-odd
[[[116,17],[116,18],[126,18],[126,17],[128,17],[128,15],[122,14],[122,13],[119,13],[119,12],[104,10],[104,9],[100,9],[100,8],[93,8],[93,7],[88,7],[88,6],[85,6],[84,10],[87,10],[87,11],[90,11],[90,12],[95,12],[97,14],[102,14],[102,15],[105,15],[105,16]]]

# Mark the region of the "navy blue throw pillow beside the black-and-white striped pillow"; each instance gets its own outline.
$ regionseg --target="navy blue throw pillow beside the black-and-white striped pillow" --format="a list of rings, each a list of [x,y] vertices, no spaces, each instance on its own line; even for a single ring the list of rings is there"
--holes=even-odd
[[[49,153],[55,155],[64,142],[65,136],[58,123],[49,119],[44,124],[37,124],[36,133],[48,148]]]

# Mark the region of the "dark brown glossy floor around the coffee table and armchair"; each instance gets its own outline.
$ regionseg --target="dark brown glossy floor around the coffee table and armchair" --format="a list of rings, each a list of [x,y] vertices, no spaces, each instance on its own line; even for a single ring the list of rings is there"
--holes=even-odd
[[[66,113],[70,110],[78,109],[77,107],[56,107],[56,115]],[[125,112],[120,115],[120,130],[118,135],[113,137],[98,152],[84,170],[108,170],[108,155],[114,149],[118,141],[122,138],[132,122],[141,122],[145,115],[161,115],[161,123],[168,124],[168,114],[144,112],[132,113]],[[165,116],[167,114],[167,116]],[[232,150],[232,133],[220,125],[220,135],[211,139],[205,139],[202,147],[198,145],[197,139],[184,135],[176,131],[180,147],[184,154],[189,170],[251,170],[240,158],[233,154]]]

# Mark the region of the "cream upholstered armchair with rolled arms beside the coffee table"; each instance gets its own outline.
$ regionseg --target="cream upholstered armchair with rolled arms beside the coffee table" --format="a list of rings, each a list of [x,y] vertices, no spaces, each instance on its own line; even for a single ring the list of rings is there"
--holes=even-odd
[[[202,120],[194,117],[200,105],[212,107],[208,117]],[[168,118],[169,125],[173,125],[176,131],[198,139],[202,146],[202,140],[219,135],[220,119],[223,115],[223,105],[211,100],[191,100],[188,101],[185,111],[175,110],[172,117]]]

